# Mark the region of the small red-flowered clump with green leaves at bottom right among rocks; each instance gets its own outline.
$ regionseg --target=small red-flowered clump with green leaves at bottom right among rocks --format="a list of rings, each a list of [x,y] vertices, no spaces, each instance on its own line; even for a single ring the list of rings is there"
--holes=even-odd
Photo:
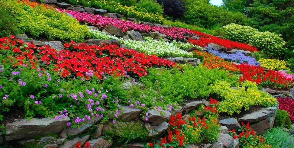
[[[240,134],[238,135],[235,130],[229,129],[229,134],[234,138],[239,140],[239,145],[241,147],[271,147],[265,144],[265,139],[263,137],[257,136],[255,131],[249,126],[249,122],[245,125],[242,123],[241,129],[238,130]]]

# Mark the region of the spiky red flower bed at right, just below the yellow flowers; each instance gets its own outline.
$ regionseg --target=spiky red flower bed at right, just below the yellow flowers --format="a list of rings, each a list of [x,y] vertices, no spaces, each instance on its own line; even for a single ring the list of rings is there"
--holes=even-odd
[[[264,69],[260,66],[249,64],[236,65],[240,69],[243,76],[240,77],[240,82],[245,80],[256,82],[261,86],[273,86],[278,88],[286,88],[293,82],[290,78],[284,77],[279,71]]]

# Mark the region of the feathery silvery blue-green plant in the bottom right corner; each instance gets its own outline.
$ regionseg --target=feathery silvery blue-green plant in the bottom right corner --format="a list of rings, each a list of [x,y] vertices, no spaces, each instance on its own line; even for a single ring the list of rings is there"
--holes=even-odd
[[[264,136],[265,143],[272,145],[273,148],[294,148],[294,137],[284,131],[284,127],[275,127],[268,130]]]

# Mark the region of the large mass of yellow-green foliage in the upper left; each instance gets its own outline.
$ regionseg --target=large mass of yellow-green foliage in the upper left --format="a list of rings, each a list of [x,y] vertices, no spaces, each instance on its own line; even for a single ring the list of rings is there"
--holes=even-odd
[[[45,36],[49,40],[75,40],[81,42],[88,34],[86,25],[60,13],[48,5],[36,2],[2,1],[3,5],[18,22],[21,33],[33,37]]]

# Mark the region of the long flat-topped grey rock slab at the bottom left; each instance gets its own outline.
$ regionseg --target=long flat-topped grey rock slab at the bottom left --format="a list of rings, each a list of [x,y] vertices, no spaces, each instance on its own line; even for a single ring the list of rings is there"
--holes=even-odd
[[[30,121],[27,121],[27,119],[17,120],[6,125],[5,139],[9,141],[58,133],[68,121],[69,117],[60,118],[59,120],[55,118],[32,118]]]

